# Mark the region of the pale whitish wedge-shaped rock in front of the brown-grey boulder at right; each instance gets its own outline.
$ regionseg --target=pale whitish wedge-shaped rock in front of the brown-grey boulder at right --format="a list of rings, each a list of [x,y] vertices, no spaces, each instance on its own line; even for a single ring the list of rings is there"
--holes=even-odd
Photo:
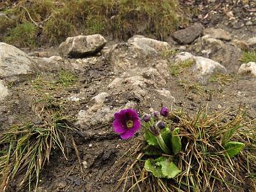
[[[199,80],[205,81],[209,75],[214,73],[227,73],[227,70],[220,63],[203,57],[194,57],[196,65],[193,67],[193,72]]]

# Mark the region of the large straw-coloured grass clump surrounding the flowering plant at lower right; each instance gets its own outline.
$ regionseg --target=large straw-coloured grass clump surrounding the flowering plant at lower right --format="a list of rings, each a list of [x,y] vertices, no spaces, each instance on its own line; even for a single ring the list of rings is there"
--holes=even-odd
[[[178,156],[168,155],[181,173],[173,179],[166,179],[146,171],[144,161],[149,157],[144,153],[142,139],[137,144],[133,141],[135,145],[127,152],[132,160],[122,157],[124,165],[129,163],[117,187],[124,183],[124,191],[135,188],[138,191],[215,191],[221,186],[228,191],[242,191],[248,186],[251,191],[256,190],[253,185],[256,171],[255,121],[248,120],[246,112],[225,110],[208,114],[206,108],[189,117],[182,111],[176,111],[171,112],[169,123],[171,129],[179,127],[181,130],[178,134],[181,153]],[[242,142],[245,148],[231,158],[224,147],[227,140]],[[130,186],[128,181],[132,181]]]

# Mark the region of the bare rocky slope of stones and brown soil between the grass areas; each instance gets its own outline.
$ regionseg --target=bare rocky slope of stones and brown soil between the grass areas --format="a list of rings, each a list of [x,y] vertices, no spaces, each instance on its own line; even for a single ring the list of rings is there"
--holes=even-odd
[[[194,114],[200,106],[212,112],[242,106],[256,117],[256,63],[240,61],[242,50],[255,50],[256,36],[241,40],[197,23],[174,39],[183,46],[144,36],[114,45],[100,35],[76,36],[59,51],[28,54],[0,43],[2,131],[12,124],[41,124],[33,104],[46,96],[79,129],[73,137],[80,158],[70,143],[68,160],[55,151],[38,191],[115,191],[116,161],[135,142],[112,131],[113,114],[123,108],[150,112],[163,104]],[[63,74],[66,84],[60,83]],[[21,189],[14,183],[11,190]]]

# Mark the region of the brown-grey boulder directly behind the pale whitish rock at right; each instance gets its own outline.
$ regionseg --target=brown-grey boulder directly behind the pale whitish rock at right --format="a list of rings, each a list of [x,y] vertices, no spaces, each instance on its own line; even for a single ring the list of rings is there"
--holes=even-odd
[[[218,39],[203,36],[191,49],[198,55],[217,61],[230,72],[236,72],[240,67],[239,59],[242,50],[235,46],[226,45]]]

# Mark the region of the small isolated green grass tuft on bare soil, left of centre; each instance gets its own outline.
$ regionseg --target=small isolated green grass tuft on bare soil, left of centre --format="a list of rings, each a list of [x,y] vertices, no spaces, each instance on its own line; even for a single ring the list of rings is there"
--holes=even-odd
[[[78,77],[68,70],[60,70],[58,73],[58,83],[63,87],[69,87],[78,80]]]

